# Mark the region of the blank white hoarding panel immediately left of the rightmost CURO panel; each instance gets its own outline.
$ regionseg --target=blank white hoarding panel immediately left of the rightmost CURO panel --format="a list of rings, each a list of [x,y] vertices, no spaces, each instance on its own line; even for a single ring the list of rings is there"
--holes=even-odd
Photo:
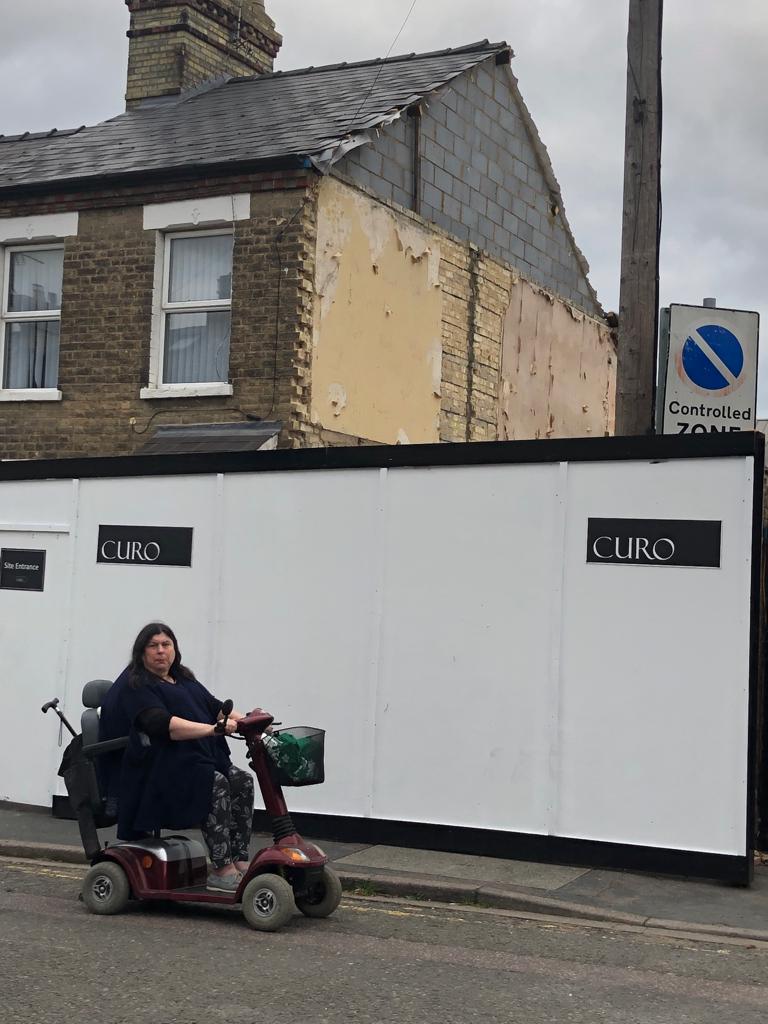
[[[548,830],[557,483],[389,471],[375,817]]]

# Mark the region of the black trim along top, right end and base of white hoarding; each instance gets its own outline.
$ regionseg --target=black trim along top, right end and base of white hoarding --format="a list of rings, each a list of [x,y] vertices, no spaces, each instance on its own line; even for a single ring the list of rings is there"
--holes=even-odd
[[[719,879],[749,885],[754,874],[753,850],[768,846],[768,764],[763,736],[768,736],[768,709],[763,697],[763,478],[765,437],[762,433],[717,433],[693,436],[598,437],[535,441],[484,441],[463,444],[372,445],[190,454],[119,456],[90,459],[0,462],[5,480],[124,478],[210,473],[259,473],[335,469],[397,469],[408,467],[548,464],[555,462],[667,462],[678,459],[754,458],[752,546],[750,722],[748,751],[746,856],[690,850],[640,847],[631,844],[573,840],[462,828],[428,822],[373,818],[294,815],[307,834],[339,841],[387,843],[456,853],[510,859],[575,863]],[[66,813],[67,799],[53,798],[53,812]],[[258,817],[259,826],[264,822]]]

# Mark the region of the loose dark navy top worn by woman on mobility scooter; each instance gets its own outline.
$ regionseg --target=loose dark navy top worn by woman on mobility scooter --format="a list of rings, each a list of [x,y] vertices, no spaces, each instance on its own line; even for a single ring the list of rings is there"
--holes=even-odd
[[[139,739],[136,719],[152,708],[189,722],[213,724],[221,701],[197,679],[177,677],[164,682],[144,672],[141,685],[128,682],[127,670],[115,681],[102,705],[102,738],[128,726],[128,748],[122,758],[118,799],[118,838],[123,840],[156,828],[199,825],[210,811],[213,773],[226,774],[231,765],[223,736],[172,740]],[[106,721],[104,721],[104,716]],[[122,733],[125,735],[125,731]]]

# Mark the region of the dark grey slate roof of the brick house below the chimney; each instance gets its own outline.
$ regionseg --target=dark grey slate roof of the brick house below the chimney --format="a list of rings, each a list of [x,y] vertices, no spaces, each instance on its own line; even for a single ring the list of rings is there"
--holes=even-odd
[[[506,43],[483,40],[434,53],[222,79],[93,127],[0,136],[0,188],[227,164],[322,166],[341,155],[355,132],[388,123],[458,75],[507,53]]]

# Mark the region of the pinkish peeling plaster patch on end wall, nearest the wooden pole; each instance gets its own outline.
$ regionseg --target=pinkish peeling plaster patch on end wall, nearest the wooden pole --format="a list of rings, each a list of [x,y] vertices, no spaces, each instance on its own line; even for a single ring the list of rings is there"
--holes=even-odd
[[[608,328],[522,279],[502,341],[499,437],[599,437],[613,431],[615,356]]]

